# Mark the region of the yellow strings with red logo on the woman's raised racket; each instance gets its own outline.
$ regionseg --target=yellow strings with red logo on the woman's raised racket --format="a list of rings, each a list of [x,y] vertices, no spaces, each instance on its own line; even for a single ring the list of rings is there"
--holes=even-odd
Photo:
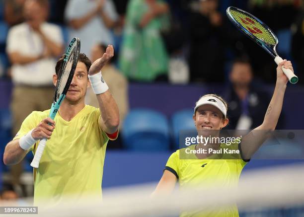
[[[272,33],[266,29],[261,23],[259,23],[253,17],[248,16],[245,13],[242,13],[237,10],[230,10],[234,19],[244,28],[247,29],[250,33],[252,33],[255,37],[260,40],[263,40],[265,43],[269,45],[276,45],[277,41],[273,37]]]

